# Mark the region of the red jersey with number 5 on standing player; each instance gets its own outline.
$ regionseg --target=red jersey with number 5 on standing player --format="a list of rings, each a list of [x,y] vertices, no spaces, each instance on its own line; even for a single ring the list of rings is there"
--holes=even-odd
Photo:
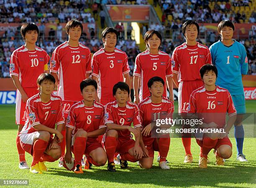
[[[136,57],[133,76],[141,77],[140,101],[150,96],[148,80],[154,76],[164,80],[163,97],[167,97],[166,77],[172,76],[171,58],[162,51],[159,51],[158,55],[152,55],[148,50],[139,53]]]

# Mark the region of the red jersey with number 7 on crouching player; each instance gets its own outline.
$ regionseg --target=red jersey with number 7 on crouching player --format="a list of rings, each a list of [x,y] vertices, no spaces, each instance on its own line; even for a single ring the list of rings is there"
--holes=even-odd
[[[36,132],[33,126],[37,124],[55,129],[55,124],[65,123],[62,100],[54,94],[51,94],[51,99],[47,103],[41,102],[39,93],[29,98],[26,104],[26,112],[28,118],[20,134]]]

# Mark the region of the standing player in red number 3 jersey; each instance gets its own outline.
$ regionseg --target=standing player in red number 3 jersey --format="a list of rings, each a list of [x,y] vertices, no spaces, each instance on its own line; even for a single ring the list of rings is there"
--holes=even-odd
[[[96,101],[103,105],[115,101],[112,95],[115,83],[125,80],[130,88],[128,58],[124,51],[115,48],[117,39],[117,30],[111,27],[105,28],[102,31],[104,48],[92,57],[92,79],[98,83]]]

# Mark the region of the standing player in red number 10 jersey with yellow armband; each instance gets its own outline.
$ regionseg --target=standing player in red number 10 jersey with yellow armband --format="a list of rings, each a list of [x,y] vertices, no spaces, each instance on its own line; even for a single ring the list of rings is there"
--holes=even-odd
[[[18,134],[16,145],[19,154],[19,168],[27,169],[25,151],[20,146],[20,131],[26,121],[26,102],[28,98],[37,94],[36,79],[44,71],[48,71],[49,56],[42,48],[36,46],[39,30],[35,23],[26,23],[21,26],[20,34],[25,41],[25,45],[13,51],[10,57],[10,76],[17,88],[16,97],[16,124],[18,124]]]

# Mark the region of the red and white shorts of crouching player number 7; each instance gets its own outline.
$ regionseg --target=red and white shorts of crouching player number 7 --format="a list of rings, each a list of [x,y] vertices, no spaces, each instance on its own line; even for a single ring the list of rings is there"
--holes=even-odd
[[[26,152],[28,152],[30,155],[33,155],[33,140],[34,140],[34,136],[36,135],[36,132],[31,132],[31,133],[23,133],[20,134],[20,145],[22,147],[22,149]],[[53,141],[53,138],[51,137],[48,145],[46,148],[49,147],[49,145],[51,144],[51,142]]]

